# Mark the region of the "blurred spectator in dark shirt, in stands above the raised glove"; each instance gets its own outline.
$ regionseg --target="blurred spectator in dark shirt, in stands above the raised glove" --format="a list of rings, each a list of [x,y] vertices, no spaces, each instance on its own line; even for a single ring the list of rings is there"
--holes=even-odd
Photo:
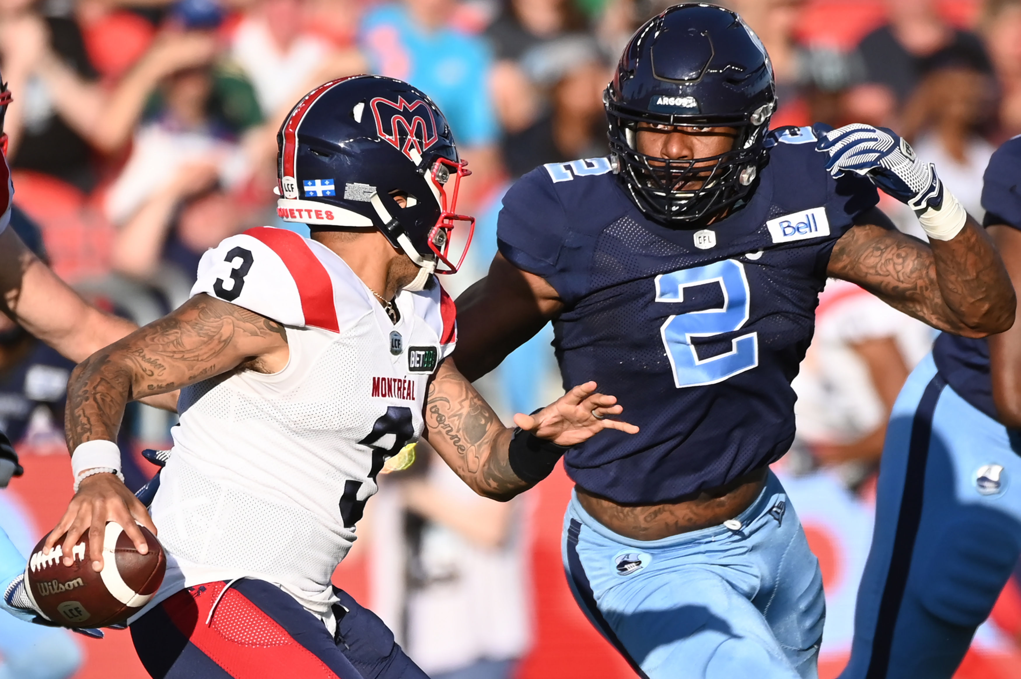
[[[991,72],[981,40],[947,25],[935,0],[886,0],[886,9],[888,23],[867,35],[858,51],[867,80],[887,87],[900,103],[935,67],[954,63]]]

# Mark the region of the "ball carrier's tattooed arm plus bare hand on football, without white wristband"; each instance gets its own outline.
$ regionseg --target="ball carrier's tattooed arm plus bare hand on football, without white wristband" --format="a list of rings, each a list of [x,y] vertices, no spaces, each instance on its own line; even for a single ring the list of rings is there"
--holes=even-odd
[[[237,369],[273,373],[289,356],[279,323],[208,295],[192,297],[171,314],[100,349],[80,363],[67,385],[67,449],[81,443],[116,440],[128,401],[172,392]],[[112,474],[85,478],[60,523],[46,539],[47,550],[67,531],[63,553],[85,531],[102,544],[107,521],[120,524],[142,553],[138,521],[155,534],[145,506]],[[92,550],[101,554],[102,550]],[[97,571],[102,557],[93,562]]]

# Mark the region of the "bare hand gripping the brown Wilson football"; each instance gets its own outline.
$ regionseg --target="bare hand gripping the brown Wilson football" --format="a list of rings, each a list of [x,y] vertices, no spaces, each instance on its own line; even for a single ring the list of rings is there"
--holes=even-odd
[[[138,553],[149,553],[149,545],[136,522],[148,528],[153,535],[156,534],[156,525],[152,523],[145,505],[112,474],[95,474],[82,480],[78,493],[71,498],[60,523],[46,537],[43,553],[50,553],[50,549],[56,546],[57,540],[66,531],[67,537],[61,544],[61,550],[64,566],[71,566],[71,548],[88,531],[92,570],[98,573],[103,570],[103,537],[108,521],[124,528],[135,543]]]

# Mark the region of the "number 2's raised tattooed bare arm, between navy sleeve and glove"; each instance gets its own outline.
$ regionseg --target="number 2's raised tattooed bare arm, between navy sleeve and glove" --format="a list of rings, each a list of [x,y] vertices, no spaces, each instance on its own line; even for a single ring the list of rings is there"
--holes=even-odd
[[[985,337],[1014,323],[1017,300],[1007,270],[970,216],[951,240],[926,244],[896,231],[873,208],[836,242],[828,273],[956,335]]]

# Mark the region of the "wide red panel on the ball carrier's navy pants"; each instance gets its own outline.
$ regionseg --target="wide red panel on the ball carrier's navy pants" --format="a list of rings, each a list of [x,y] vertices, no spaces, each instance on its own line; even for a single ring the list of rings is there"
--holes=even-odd
[[[236,589],[210,582],[184,589],[160,605],[174,626],[234,679],[341,679],[326,663]],[[206,624],[213,603],[211,624]]]

